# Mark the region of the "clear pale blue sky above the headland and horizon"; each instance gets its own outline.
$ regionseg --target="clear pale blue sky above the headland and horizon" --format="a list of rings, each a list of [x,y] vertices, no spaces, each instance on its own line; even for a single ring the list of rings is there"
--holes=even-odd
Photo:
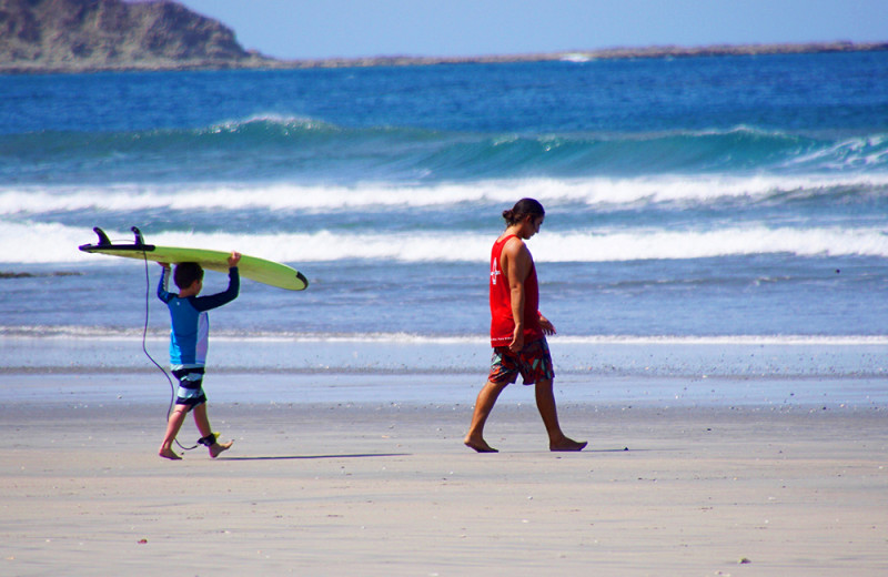
[[[280,59],[888,41],[886,0],[180,0]]]

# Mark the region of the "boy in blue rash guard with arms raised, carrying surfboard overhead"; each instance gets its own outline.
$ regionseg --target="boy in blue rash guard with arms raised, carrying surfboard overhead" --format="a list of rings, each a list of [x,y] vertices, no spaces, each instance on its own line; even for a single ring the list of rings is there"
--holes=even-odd
[[[194,411],[194,424],[201,438],[198,441],[210,449],[210,456],[215,458],[220,453],[231,447],[233,441],[219,443],[210,419],[206,416],[206,395],[203,392],[203,371],[206,363],[206,345],[210,333],[209,315],[206,311],[230,303],[238,297],[240,290],[240,274],[238,263],[240,253],[232,252],[229,256],[229,287],[222,293],[198,296],[203,288],[203,269],[198,263],[181,263],[175,265],[173,282],[179,287],[179,294],[167,291],[170,276],[170,265],[161,263],[163,273],[158,285],[158,297],[167,303],[170,308],[172,332],[170,334],[170,365],[175,378],[179,379],[175,406],[170,413],[167,423],[167,436],[158,454],[163,458],[181,459],[172,449],[173,441],[185,421],[185,415]]]

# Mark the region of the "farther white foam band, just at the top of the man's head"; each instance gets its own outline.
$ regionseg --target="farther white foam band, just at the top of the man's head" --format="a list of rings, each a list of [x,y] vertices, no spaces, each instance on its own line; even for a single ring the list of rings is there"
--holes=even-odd
[[[0,186],[0,215],[73,211],[245,210],[337,211],[369,207],[441,207],[460,203],[506,205],[516,198],[593,207],[637,203],[706,203],[781,192],[817,194],[833,188],[885,188],[888,173],[848,175],[657,175],[649,178],[521,179],[470,183],[354,185],[286,182]]]

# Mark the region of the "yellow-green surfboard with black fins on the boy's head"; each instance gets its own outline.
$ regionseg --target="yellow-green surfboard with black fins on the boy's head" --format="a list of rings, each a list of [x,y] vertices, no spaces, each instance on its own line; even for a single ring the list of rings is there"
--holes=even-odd
[[[88,253],[139,259],[140,261],[147,259],[158,263],[178,264],[191,262],[198,263],[210,271],[223,273],[229,271],[230,252],[145,244],[142,233],[135,226],[132,227],[132,232],[135,234],[133,244],[113,244],[108,240],[104,231],[98,226],[93,231],[99,235],[99,242],[97,244],[81,244],[78,249]],[[241,256],[238,271],[245,279],[286,288],[287,291],[304,291],[309,286],[309,280],[295,269],[246,254]]]

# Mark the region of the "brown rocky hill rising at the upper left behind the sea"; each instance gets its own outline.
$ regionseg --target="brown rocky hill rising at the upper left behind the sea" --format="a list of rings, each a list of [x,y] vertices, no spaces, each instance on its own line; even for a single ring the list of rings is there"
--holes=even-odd
[[[234,32],[170,0],[0,0],[0,72],[262,65]]]

